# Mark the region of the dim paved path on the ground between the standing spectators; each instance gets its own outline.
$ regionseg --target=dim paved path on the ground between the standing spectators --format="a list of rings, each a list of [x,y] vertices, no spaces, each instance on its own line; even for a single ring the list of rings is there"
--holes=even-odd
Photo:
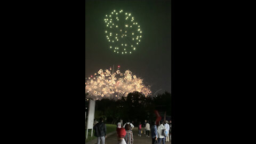
[[[143,130],[143,129],[142,129]],[[138,127],[134,127],[133,130],[133,144],[151,144],[152,138],[151,138],[151,131],[149,133],[149,137],[146,137],[146,134],[141,134],[141,137],[138,136]],[[97,143],[97,139],[94,139],[90,142],[86,142],[86,144],[95,144]],[[117,133],[111,132],[107,134],[107,138],[105,139],[105,144],[116,144],[117,143]],[[166,144],[171,144],[171,142],[165,142]]]

